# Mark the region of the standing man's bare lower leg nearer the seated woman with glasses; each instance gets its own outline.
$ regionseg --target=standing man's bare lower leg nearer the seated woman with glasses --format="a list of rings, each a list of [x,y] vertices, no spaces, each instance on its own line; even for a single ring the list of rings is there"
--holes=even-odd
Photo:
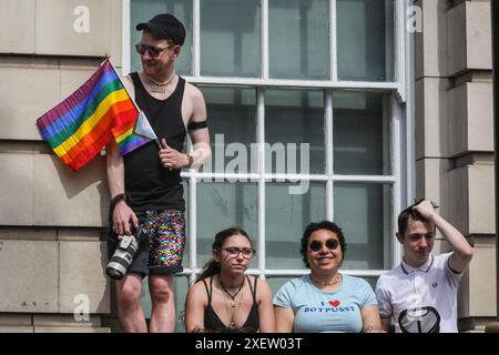
[[[173,333],[175,331],[175,302],[172,275],[149,275],[151,294],[151,333]]]

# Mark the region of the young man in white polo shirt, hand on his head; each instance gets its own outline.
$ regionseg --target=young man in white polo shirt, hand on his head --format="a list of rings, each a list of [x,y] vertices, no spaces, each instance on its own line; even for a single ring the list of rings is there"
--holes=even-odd
[[[434,256],[436,227],[451,247]],[[381,275],[376,296],[381,327],[404,333],[457,333],[457,288],[473,255],[465,236],[424,200],[398,216],[403,262]]]

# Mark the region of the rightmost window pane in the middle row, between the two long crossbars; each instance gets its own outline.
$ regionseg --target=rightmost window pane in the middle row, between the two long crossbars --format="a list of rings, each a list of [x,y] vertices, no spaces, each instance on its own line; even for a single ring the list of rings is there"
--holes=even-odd
[[[388,98],[376,92],[333,95],[334,171],[336,174],[390,174]]]

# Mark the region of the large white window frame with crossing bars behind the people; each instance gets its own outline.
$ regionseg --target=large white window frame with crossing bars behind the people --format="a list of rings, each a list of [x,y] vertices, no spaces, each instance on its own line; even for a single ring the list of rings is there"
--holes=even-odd
[[[130,44],[130,1],[122,0],[122,72],[131,70]],[[248,174],[200,173],[195,170],[182,172],[184,180],[189,181],[189,237],[190,237],[190,267],[179,274],[189,276],[194,282],[196,273],[203,265],[197,265],[196,250],[196,185],[206,178],[252,179],[258,182],[258,255],[265,256],[265,185],[273,179],[308,179],[310,182],[325,182],[326,184],[326,216],[333,220],[333,185],[335,182],[358,182],[390,184],[391,193],[391,232],[397,227],[397,214],[404,205],[410,203],[415,194],[415,138],[414,138],[414,39],[406,31],[406,12],[410,0],[395,0],[395,33],[394,33],[394,78],[393,82],[370,81],[338,81],[336,55],[336,0],[329,0],[329,80],[286,80],[272,79],[268,73],[268,0],[261,0],[262,11],[262,78],[222,78],[201,75],[200,55],[200,1],[193,3],[193,48],[192,75],[184,78],[194,84],[211,84],[224,87],[254,87],[256,88],[257,112],[257,143],[259,151],[258,172]],[[388,30],[387,30],[388,31]],[[265,172],[265,90],[266,88],[297,88],[324,90],[324,124],[325,124],[325,174],[271,174]],[[333,91],[337,89],[369,89],[377,92],[389,93],[390,114],[390,144],[391,144],[391,174],[390,175],[340,175],[333,172]],[[391,233],[393,234],[393,233]],[[391,264],[398,264],[401,258],[401,248],[394,242],[394,235],[385,235],[385,243],[391,245]],[[348,270],[345,274],[364,277],[377,277],[385,270]],[[308,270],[276,270],[266,268],[265,257],[258,257],[257,268],[251,268],[248,274],[266,276],[298,276],[307,274]]]

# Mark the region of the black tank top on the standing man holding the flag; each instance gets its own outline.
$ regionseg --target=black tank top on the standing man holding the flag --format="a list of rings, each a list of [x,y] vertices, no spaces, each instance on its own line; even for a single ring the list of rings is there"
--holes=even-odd
[[[182,151],[185,125],[182,120],[182,98],[185,80],[179,77],[175,91],[166,100],[157,100],[149,94],[136,72],[131,73],[135,88],[135,102],[145,113],[157,139]],[[159,159],[154,142],[142,145],[123,156],[125,191],[132,209],[185,210],[184,189],[180,170],[165,169]]]

